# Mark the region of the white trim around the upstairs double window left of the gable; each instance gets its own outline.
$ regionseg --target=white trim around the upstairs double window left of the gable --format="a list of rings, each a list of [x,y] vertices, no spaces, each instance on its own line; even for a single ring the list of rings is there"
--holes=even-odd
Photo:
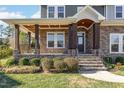
[[[57,19],[60,19],[58,17],[58,7],[64,7],[64,17],[63,18],[65,18],[65,5],[47,5],[47,18],[49,18],[49,16],[48,16],[49,15],[49,11],[48,11],[49,7],[54,7],[54,9],[55,9],[54,18],[57,18]]]

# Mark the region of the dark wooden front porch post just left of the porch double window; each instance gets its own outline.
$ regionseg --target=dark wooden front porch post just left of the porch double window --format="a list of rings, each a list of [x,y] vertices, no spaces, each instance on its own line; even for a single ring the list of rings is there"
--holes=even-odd
[[[39,25],[35,24],[35,54],[40,54]]]

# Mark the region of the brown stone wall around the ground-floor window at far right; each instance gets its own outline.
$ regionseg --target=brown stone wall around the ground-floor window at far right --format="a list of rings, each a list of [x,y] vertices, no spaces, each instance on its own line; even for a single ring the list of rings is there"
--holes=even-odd
[[[103,56],[124,56],[124,54],[110,54],[110,33],[124,33],[124,26],[101,26],[100,27],[100,50]]]

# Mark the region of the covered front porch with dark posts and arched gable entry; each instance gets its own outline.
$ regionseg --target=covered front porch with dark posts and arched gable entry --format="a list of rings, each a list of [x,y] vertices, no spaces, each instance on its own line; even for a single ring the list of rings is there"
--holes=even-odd
[[[15,28],[16,57],[99,55],[102,20],[104,17],[89,6],[69,18],[2,19]],[[21,31],[28,36],[25,51],[20,47]],[[31,37],[35,40],[34,49],[31,47]]]

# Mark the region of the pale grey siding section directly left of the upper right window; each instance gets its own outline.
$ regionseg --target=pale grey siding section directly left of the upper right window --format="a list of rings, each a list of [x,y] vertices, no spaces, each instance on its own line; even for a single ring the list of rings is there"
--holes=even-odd
[[[106,19],[108,20],[115,19],[115,6],[114,5],[107,5]]]

